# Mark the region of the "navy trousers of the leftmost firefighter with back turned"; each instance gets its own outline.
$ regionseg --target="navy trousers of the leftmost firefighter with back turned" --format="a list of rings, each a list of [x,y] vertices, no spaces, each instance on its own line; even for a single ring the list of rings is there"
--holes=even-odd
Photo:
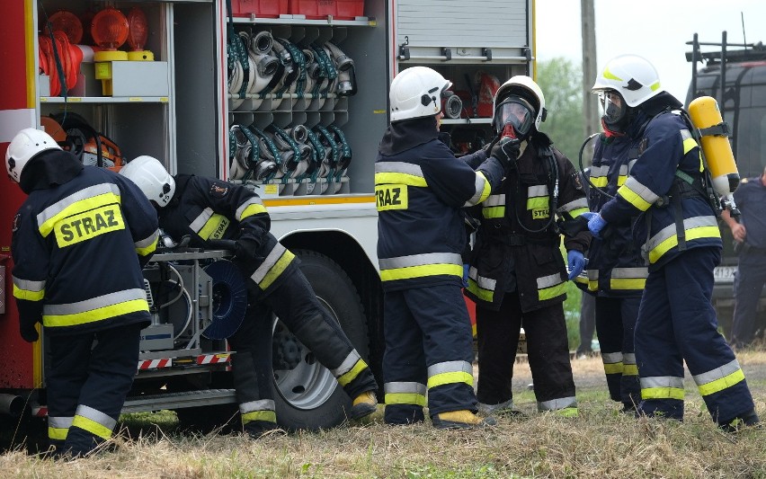
[[[85,456],[111,438],[138,369],[140,324],[51,336],[48,435],[57,454]]]

